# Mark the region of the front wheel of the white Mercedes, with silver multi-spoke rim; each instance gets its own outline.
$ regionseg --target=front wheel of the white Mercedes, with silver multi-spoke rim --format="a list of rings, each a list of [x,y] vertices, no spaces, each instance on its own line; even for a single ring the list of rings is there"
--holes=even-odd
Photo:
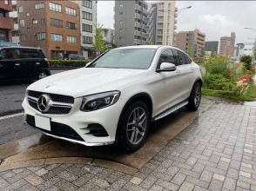
[[[140,118],[140,119],[139,119]],[[144,102],[132,102],[122,117],[120,147],[133,152],[141,148],[148,132],[150,116]]]

